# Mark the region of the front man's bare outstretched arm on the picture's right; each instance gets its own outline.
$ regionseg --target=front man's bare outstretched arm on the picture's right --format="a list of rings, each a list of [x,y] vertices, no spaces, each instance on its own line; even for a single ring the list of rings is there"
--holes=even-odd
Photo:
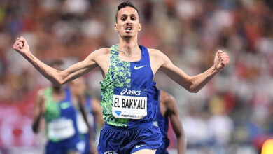
[[[183,72],[179,67],[175,66],[171,60],[158,50],[153,53],[152,62],[155,65],[155,70],[158,68],[163,71],[167,76],[172,78],[176,83],[179,83],[182,87],[185,87],[186,90],[190,92],[198,92],[199,90],[206,85],[211,78],[213,78],[216,73],[221,71],[228,65],[230,59],[228,54],[218,50],[214,58],[214,65],[211,66],[204,73],[200,73],[197,76],[188,76]],[[158,64],[155,64],[158,63]]]

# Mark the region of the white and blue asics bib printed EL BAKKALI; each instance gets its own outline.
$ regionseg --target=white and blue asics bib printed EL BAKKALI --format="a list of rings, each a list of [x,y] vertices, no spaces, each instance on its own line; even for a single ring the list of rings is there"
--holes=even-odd
[[[112,114],[116,118],[141,119],[147,116],[147,91],[115,87]]]

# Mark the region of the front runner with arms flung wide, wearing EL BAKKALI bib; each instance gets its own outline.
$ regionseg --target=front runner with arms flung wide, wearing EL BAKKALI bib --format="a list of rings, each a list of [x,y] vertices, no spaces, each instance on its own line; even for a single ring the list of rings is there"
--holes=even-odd
[[[130,1],[120,3],[115,24],[119,43],[91,52],[83,61],[64,71],[53,69],[36,58],[22,36],[13,44],[14,50],[55,85],[67,83],[99,67],[104,77],[100,83],[105,122],[98,146],[101,154],[151,154],[160,147],[160,130],[153,126],[158,105],[153,76],[158,70],[186,90],[198,92],[229,62],[227,53],[218,50],[211,68],[197,76],[188,76],[160,50],[137,43],[141,28],[137,8]]]

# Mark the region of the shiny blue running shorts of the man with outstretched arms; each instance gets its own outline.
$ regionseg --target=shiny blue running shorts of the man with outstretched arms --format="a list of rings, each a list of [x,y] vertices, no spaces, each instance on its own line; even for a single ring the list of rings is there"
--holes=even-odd
[[[100,154],[128,154],[142,149],[156,150],[161,145],[161,133],[153,123],[136,127],[120,128],[105,124],[99,137],[97,150]]]

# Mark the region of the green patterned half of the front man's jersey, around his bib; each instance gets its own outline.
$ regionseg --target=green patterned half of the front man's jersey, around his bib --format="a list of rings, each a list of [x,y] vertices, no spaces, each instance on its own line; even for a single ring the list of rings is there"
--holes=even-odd
[[[127,127],[129,119],[115,118],[112,115],[114,87],[130,87],[131,71],[130,62],[120,61],[118,45],[111,46],[110,66],[105,80],[100,83],[102,88],[102,113],[105,123],[118,127]]]

